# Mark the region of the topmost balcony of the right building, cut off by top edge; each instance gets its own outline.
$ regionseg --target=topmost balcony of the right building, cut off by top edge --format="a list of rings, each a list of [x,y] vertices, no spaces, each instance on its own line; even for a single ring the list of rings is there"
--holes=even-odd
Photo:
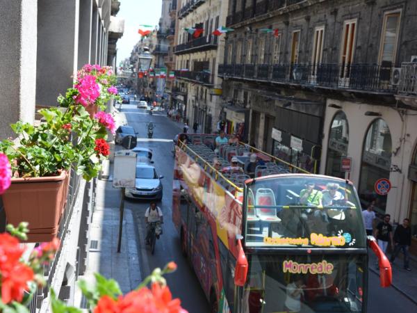
[[[238,24],[247,19],[252,19],[253,17],[261,17],[272,11],[282,10],[302,2],[306,2],[306,0],[263,0],[256,3],[256,6],[250,6],[243,11],[238,11],[229,15],[226,18],[226,26]]]

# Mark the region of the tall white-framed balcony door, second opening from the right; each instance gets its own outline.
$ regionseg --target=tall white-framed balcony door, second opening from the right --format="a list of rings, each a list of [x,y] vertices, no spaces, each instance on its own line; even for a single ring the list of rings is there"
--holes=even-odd
[[[350,66],[353,62],[354,45],[357,32],[357,20],[345,21],[343,26],[342,49],[341,49],[341,75],[339,84],[349,86]]]

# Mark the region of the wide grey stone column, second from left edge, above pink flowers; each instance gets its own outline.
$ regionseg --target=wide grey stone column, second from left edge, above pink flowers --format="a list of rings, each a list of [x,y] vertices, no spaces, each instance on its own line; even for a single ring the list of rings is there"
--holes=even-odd
[[[78,69],[79,0],[38,1],[36,104],[56,106]]]

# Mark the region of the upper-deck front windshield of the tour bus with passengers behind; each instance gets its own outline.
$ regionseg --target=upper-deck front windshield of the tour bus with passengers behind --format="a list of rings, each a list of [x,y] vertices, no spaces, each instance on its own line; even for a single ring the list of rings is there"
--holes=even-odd
[[[246,246],[365,248],[354,186],[334,177],[254,180],[246,192]]]

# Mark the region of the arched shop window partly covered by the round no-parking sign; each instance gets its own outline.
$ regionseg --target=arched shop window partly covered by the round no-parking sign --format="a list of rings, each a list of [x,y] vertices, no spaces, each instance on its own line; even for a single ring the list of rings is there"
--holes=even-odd
[[[389,179],[391,153],[392,141],[388,125],[381,118],[374,120],[363,143],[359,198],[363,207],[368,207],[375,200],[375,210],[379,214],[384,214],[386,210],[386,195],[376,193],[375,182],[380,178]]]

